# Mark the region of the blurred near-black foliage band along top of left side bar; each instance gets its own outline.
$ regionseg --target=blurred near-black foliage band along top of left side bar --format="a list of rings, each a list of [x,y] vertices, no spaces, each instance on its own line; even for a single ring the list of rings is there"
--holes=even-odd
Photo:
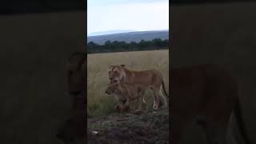
[[[86,10],[85,0],[2,0],[0,14]]]

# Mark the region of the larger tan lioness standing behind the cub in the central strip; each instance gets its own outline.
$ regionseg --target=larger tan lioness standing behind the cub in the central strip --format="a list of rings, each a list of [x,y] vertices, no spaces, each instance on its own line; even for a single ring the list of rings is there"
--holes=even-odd
[[[109,68],[110,82],[140,84],[146,87],[150,87],[154,94],[153,108],[157,110],[162,105],[162,103],[164,107],[167,106],[166,98],[162,94],[159,94],[162,87],[164,94],[168,96],[166,93],[166,87],[162,78],[162,74],[158,70],[131,71],[126,69],[125,65],[110,66]]]

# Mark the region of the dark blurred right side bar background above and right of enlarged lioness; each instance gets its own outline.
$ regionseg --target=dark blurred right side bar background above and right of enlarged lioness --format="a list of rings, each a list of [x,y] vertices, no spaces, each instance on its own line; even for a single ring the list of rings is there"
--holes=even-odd
[[[170,6],[171,67],[211,63],[230,70],[241,86],[246,132],[256,142],[256,1],[198,1]]]

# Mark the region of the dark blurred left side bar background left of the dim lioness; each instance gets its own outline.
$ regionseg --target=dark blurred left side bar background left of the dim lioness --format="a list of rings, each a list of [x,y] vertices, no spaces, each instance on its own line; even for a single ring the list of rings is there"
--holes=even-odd
[[[72,115],[67,58],[85,51],[85,2],[1,2],[0,143],[58,142]]]

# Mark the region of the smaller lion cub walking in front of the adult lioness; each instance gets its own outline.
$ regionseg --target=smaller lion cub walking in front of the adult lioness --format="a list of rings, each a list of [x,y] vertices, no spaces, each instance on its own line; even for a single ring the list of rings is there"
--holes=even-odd
[[[138,109],[135,111],[142,111],[146,109],[146,101],[144,99],[146,86],[140,84],[121,84],[120,82],[112,82],[106,89],[106,94],[114,94],[118,105],[115,106],[117,111],[129,111],[130,102],[134,99],[139,100]]]

